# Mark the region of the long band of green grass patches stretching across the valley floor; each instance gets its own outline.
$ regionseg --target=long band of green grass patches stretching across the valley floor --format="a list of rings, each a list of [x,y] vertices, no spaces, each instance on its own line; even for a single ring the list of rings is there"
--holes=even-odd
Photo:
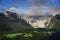
[[[29,37],[33,37],[33,35],[38,35],[38,36],[47,36],[47,35],[52,35],[53,32],[32,32],[32,33],[12,33],[12,34],[4,34],[3,37],[7,37],[7,38],[15,38],[17,36],[23,36],[25,38],[29,38]]]

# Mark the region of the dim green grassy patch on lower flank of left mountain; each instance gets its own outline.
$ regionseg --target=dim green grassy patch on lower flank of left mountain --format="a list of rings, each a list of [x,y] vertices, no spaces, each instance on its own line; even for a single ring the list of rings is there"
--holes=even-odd
[[[11,22],[9,24],[9,26],[12,28],[12,31],[13,32],[23,32],[23,31],[26,31],[26,28],[24,25],[20,24],[20,23],[17,23],[17,22]]]

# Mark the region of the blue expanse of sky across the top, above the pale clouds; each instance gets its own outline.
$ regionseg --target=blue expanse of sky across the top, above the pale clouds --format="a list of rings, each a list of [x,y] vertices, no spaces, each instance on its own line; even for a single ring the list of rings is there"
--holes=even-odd
[[[41,0],[36,0],[36,1],[38,2]],[[50,8],[55,8],[60,6],[60,0],[52,0],[52,2],[49,2],[49,0],[48,1],[46,0],[47,1],[46,3],[44,1],[45,0],[41,1],[40,3],[37,3],[32,0],[0,0],[0,8],[7,9],[7,8],[14,7],[16,8],[14,10],[15,12],[21,13],[22,11],[28,10],[30,7],[36,6],[38,4],[39,6],[45,6]]]

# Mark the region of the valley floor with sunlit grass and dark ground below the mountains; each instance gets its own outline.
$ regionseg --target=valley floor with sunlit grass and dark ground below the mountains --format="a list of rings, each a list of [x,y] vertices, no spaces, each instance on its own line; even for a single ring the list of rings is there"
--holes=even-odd
[[[52,31],[30,31],[26,33],[8,33],[0,36],[0,40],[46,40],[45,38],[53,35]]]

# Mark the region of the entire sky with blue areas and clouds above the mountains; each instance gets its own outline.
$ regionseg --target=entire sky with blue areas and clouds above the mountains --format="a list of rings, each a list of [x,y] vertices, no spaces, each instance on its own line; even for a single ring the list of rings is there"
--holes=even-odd
[[[60,0],[0,0],[0,12],[12,11],[20,15],[60,13]]]

